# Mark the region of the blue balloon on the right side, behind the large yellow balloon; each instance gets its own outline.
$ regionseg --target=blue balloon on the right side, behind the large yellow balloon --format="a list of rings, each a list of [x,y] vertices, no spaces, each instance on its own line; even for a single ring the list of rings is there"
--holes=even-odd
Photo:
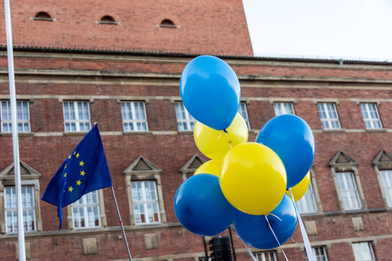
[[[287,188],[297,185],[312,166],[315,142],[309,125],[300,117],[283,114],[267,121],[256,137],[278,154],[287,173]]]

